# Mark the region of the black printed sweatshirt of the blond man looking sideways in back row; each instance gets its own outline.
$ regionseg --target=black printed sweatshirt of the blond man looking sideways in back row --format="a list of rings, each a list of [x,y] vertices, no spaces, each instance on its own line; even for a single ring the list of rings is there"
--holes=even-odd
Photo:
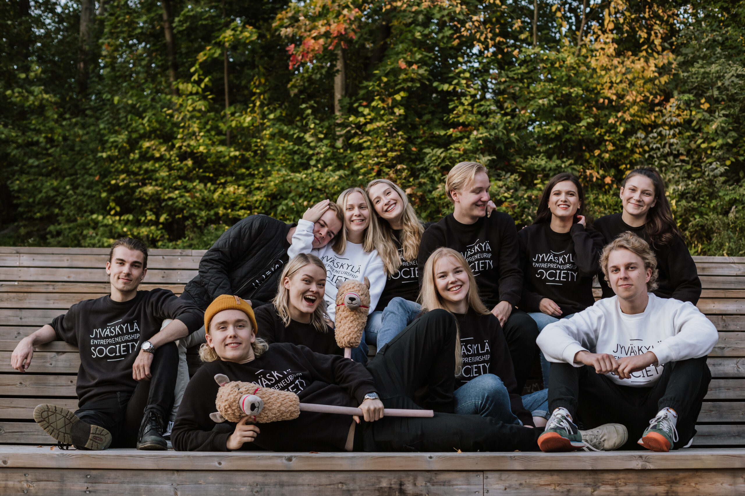
[[[452,248],[466,258],[478,283],[478,295],[489,310],[498,302],[518,305],[522,293],[522,271],[515,221],[504,212],[492,212],[475,223],[462,224],[449,214],[422,235],[419,267],[440,247]],[[419,284],[422,283],[419,273]]]

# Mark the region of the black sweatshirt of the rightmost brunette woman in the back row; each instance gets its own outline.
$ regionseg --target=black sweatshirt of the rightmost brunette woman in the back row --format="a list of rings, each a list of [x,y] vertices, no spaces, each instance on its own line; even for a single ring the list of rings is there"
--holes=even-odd
[[[657,270],[659,270],[657,282],[659,287],[653,293],[660,298],[674,298],[682,302],[697,304],[701,297],[701,281],[696,270],[696,263],[682,239],[676,236],[673,238],[671,245],[654,247],[644,232],[644,226],[632,227],[628,225],[621,218],[621,214],[600,217],[595,221],[595,229],[603,234],[606,244],[626,231],[633,232],[643,238],[650,244],[657,257]],[[598,274],[597,279],[600,279],[600,287],[603,288],[603,298],[610,298],[615,295],[605,282],[602,272]]]

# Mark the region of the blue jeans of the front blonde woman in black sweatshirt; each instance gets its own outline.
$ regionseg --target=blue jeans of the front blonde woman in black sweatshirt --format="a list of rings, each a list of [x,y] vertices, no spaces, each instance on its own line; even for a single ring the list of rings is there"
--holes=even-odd
[[[501,379],[494,374],[479,375],[454,392],[455,413],[494,417],[505,424],[522,425],[512,412],[510,394]],[[548,419],[548,390],[522,397],[522,404],[534,417]]]

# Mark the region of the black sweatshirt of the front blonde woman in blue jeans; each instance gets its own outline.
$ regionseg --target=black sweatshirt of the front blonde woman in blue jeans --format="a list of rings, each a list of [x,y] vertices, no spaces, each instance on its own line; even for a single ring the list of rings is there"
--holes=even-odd
[[[479,375],[493,374],[501,379],[510,393],[510,410],[523,425],[533,425],[533,416],[525,410],[517,390],[510,349],[504,339],[499,319],[492,314],[453,314],[460,330],[460,356],[463,372],[455,380],[455,389]]]

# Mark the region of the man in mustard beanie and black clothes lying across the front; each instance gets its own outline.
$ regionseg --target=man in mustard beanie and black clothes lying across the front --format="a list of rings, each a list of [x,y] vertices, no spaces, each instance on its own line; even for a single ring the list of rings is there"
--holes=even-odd
[[[180,451],[537,451],[541,430],[491,417],[435,413],[434,418],[383,417],[384,407],[453,411],[454,317],[428,312],[396,336],[369,365],[256,338],[253,309],[237,296],[219,296],[204,316],[206,362],[191,378],[171,439]],[[303,411],[294,420],[251,425],[244,417],[216,424],[215,375],[291,391],[303,403],[359,407],[364,421]],[[417,390],[427,388],[419,400]]]

